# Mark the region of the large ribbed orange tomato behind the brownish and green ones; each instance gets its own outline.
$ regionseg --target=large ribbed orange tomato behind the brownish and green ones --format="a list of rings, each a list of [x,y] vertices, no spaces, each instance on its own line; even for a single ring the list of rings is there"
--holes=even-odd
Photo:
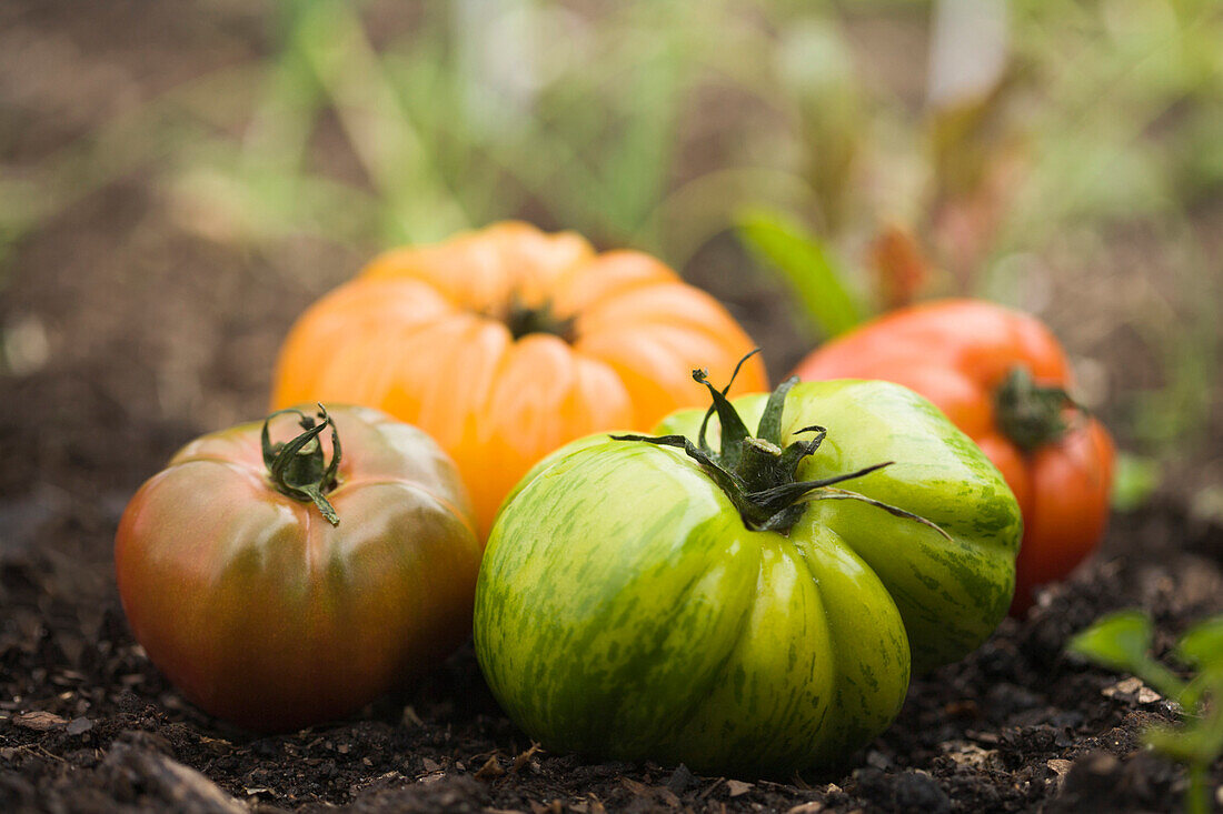
[[[388,252],[311,307],[280,351],[272,403],[362,403],[424,429],[486,534],[541,457],[698,406],[691,369],[726,380],[752,347],[657,259],[505,222]],[[735,391],[767,386],[753,357]]]

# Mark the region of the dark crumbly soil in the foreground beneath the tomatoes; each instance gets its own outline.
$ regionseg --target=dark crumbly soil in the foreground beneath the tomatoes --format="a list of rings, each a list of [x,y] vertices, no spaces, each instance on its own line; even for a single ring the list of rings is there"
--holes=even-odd
[[[849,755],[850,769],[822,775],[702,777],[549,754],[498,710],[470,648],[351,720],[254,737],[166,684],[109,587],[100,600],[75,593],[109,585],[109,572],[62,556],[67,539],[105,543],[117,510],[64,502],[46,510],[39,551],[5,552],[2,810],[1175,810],[1183,774],[1140,736],[1173,720],[1169,704],[1063,647],[1125,605],[1155,612],[1163,648],[1223,610],[1223,532],[1186,528],[1172,508],[1120,518],[1074,581],[964,662],[915,681],[896,724]]]

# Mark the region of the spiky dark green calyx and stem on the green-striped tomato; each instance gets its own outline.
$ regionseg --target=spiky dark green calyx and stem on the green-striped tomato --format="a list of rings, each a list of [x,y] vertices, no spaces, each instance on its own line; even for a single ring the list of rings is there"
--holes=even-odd
[[[755,436],[747,430],[739,412],[726,398],[730,385],[734,384],[744,362],[757,352],[758,348],[740,359],[730,376],[730,383],[722,390],[709,384],[707,370],[692,372],[692,379],[704,385],[713,400],[706,411],[704,420],[701,422],[701,431],[696,444],[684,435],[660,435],[657,438],[613,435],[612,438],[618,441],[646,441],[684,450],[730,497],[742,516],[744,524],[752,530],[778,532],[788,535],[802,516],[807,502],[849,499],[878,506],[898,517],[914,519],[937,529],[944,537],[947,535],[943,529],[925,518],[855,491],[835,488],[835,484],[861,478],[892,466],[892,461],[821,480],[799,480],[799,464],[807,456],[815,455],[828,435],[828,430],[815,424],[805,427],[794,435],[810,434],[808,440],[793,441],[789,446],[781,445],[781,412],[785,408],[786,395],[799,381],[797,376],[786,379],[769,395]],[[717,452],[706,441],[706,430],[714,413],[717,413],[722,425],[722,449]]]

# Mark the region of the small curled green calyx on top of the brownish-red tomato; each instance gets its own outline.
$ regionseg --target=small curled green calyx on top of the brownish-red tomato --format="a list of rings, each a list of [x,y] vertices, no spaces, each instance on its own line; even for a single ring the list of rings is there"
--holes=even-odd
[[[263,419],[263,463],[268,467],[268,477],[276,491],[294,500],[311,501],[331,526],[340,524],[340,516],[327,499],[327,493],[335,489],[336,473],[340,468],[340,434],[335,422],[323,405],[318,406],[317,423],[312,416],[289,407],[278,409]],[[268,424],[283,413],[296,413],[302,433],[290,441],[272,442]],[[318,436],[328,427],[331,428],[331,461],[323,455],[323,445]]]

